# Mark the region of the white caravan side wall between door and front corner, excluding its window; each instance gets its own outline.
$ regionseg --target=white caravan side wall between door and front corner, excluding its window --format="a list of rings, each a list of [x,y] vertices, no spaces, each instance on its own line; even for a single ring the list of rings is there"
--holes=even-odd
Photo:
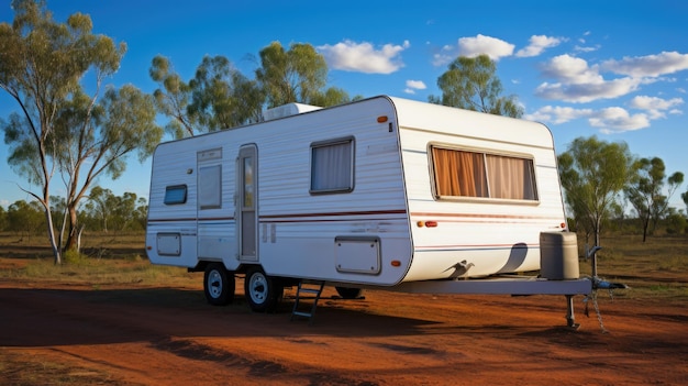
[[[268,274],[375,285],[402,279],[412,246],[393,120],[390,101],[376,98],[262,125],[269,141],[257,142],[259,250]],[[313,191],[313,148],[337,141],[353,144],[353,186]]]

